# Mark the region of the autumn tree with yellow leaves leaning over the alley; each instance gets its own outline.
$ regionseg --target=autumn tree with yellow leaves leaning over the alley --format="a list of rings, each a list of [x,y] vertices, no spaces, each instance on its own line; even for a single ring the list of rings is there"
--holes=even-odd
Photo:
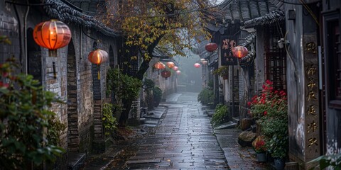
[[[203,18],[214,9],[207,0],[107,0],[107,14],[101,19],[121,34],[124,49],[129,49],[124,50],[129,53],[124,55],[129,57],[125,64],[141,57],[139,70],[131,76],[142,80],[149,62],[156,57],[154,50],[170,57],[185,56],[185,49],[209,39]],[[134,99],[122,101],[125,109],[119,125],[125,124]]]

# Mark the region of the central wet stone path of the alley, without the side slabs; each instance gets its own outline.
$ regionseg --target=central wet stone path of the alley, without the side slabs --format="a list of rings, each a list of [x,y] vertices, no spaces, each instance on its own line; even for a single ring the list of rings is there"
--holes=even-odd
[[[168,111],[158,126],[124,150],[129,158],[119,169],[228,169],[197,94],[174,94],[163,106]],[[110,164],[107,169],[118,167]]]

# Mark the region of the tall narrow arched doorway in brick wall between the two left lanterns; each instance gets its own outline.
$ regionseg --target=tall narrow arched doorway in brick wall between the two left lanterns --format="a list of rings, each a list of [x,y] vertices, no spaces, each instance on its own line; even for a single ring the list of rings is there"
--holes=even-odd
[[[67,145],[68,150],[78,152],[80,137],[78,130],[77,67],[75,46],[71,40],[67,47]]]

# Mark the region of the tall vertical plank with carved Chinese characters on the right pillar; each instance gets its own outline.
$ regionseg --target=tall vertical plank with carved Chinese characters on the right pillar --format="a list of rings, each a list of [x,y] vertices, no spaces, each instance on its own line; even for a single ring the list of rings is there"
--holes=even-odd
[[[320,156],[320,115],[318,104],[318,52],[315,35],[304,35],[305,70],[305,157]]]

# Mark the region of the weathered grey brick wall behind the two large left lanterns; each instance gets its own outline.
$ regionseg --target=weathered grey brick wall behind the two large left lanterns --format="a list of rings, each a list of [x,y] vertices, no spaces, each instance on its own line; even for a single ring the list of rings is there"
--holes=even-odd
[[[26,72],[26,66],[30,67],[31,64],[26,64],[24,32],[28,28],[32,31],[36,24],[50,18],[38,8],[32,7],[24,22],[26,6],[16,8],[19,19],[16,18],[13,5],[0,1],[0,35],[8,36],[12,42],[12,45],[0,45],[0,62],[13,55],[20,62],[21,72]],[[111,46],[114,50],[110,54],[115,55],[114,60],[117,60],[117,48],[111,37],[73,23],[66,24],[72,33],[70,44],[58,50],[58,57],[48,57],[48,50],[38,47],[41,60],[35,62],[41,63],[38,69],[41,69],[40,78],[45,89],[53,91],[65,101],[65,104],[55,103],[51,107],[67,127],[60,135],[62,147],[70,152],[90,152],[94,137],[103,137],[102,101],[106,98],[105,74],[109,61],[100,66],[101,79],[93,81],[97,79],[97,72],[93,72],[94,66],[87,60],[87,55],[95,41],[92,38],[100,40],[100,47],[108,53]],[[91,38],[82,32],[83,29]],[[28,44],[35,43],[32,40]],[[53,78],[53,65],[57,79]]]

